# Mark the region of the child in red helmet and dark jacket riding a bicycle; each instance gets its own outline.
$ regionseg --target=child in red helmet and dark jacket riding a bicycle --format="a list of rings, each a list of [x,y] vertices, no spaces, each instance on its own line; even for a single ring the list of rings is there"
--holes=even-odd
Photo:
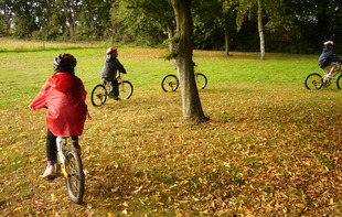
[[[113,98],[115,100],[120,100],[119,84],[118,80],[116,79],[117,70],[126,74],[126,69],[119,62],[118,55],[119,55],[118,48],[115,46],[110,46],[107,50],[107,58],[105,61],[105,66],[100,72],[101,78],[104,78],[104,84],[106,84],[106,82],[111,82],[113,93],[110,93],[110,95],[113,95]]]

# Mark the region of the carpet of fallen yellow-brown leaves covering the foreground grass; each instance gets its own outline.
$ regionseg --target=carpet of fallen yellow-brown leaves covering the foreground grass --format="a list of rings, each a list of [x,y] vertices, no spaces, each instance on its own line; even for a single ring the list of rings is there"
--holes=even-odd
[[[209,87],[200,124],[182,121],[180,93],[159,94],[89,106],[81,206],[40,177],[44,112],[2,110],[0,216],[341,214],[339,94]]]

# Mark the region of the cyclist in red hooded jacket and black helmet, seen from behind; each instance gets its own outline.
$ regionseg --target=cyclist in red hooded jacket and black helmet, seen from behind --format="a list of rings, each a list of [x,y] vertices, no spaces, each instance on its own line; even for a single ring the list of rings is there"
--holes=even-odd
[[[82,135],[86,116],[86,90],[75,76],[76,58],[71,54],[60,54],[53,61],[54,75],[43,85],[30,108],[38,110],[49,106],[46,115],[47,167],[43,177],[53,180],[56,163],[56,137],[72,137],[73,148],[81,154],[78,135]],[[90,117],[89,117],[90,118]]]

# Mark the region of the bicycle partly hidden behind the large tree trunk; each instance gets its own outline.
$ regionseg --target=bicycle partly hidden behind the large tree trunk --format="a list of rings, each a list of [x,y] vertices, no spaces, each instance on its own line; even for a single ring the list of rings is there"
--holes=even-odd
[[[204,89],[207,85],[207,78],[204,74],[202,73],[196,73],[194,70],[194,76],[195,76],[195,82],[197,85],[199,89]],[[178,87],[180,86],[180,82],[178,77],[173,74],[167,75],[162,80],[161,80],[161,88],[168,93],[168,91],[175,91]]]

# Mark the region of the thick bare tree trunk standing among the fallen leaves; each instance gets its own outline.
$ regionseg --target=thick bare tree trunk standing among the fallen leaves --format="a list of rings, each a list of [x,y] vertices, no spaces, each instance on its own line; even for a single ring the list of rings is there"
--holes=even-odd
[[[178,45],[177,69],[181,83],[184,120],[201,121],[205,119],[193,69],[193,23],[191,17],[192,0],[171,0],[177,21]]]

